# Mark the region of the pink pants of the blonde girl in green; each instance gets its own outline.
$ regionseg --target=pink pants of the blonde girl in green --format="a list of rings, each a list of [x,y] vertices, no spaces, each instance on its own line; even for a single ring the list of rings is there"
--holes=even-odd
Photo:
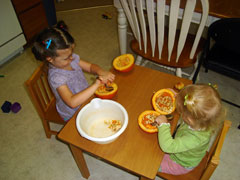
[[[186,169],[183,166],[177,164],[173,160],[171,160],[169,154],[165,154],[163,156],[163,160],[161,163],[161,166],[159,168],[159,171],[162,173],[167,174],[173,174],[173,175],[180,175],[180,174],[186,174],[190,172],[192,169]]]

